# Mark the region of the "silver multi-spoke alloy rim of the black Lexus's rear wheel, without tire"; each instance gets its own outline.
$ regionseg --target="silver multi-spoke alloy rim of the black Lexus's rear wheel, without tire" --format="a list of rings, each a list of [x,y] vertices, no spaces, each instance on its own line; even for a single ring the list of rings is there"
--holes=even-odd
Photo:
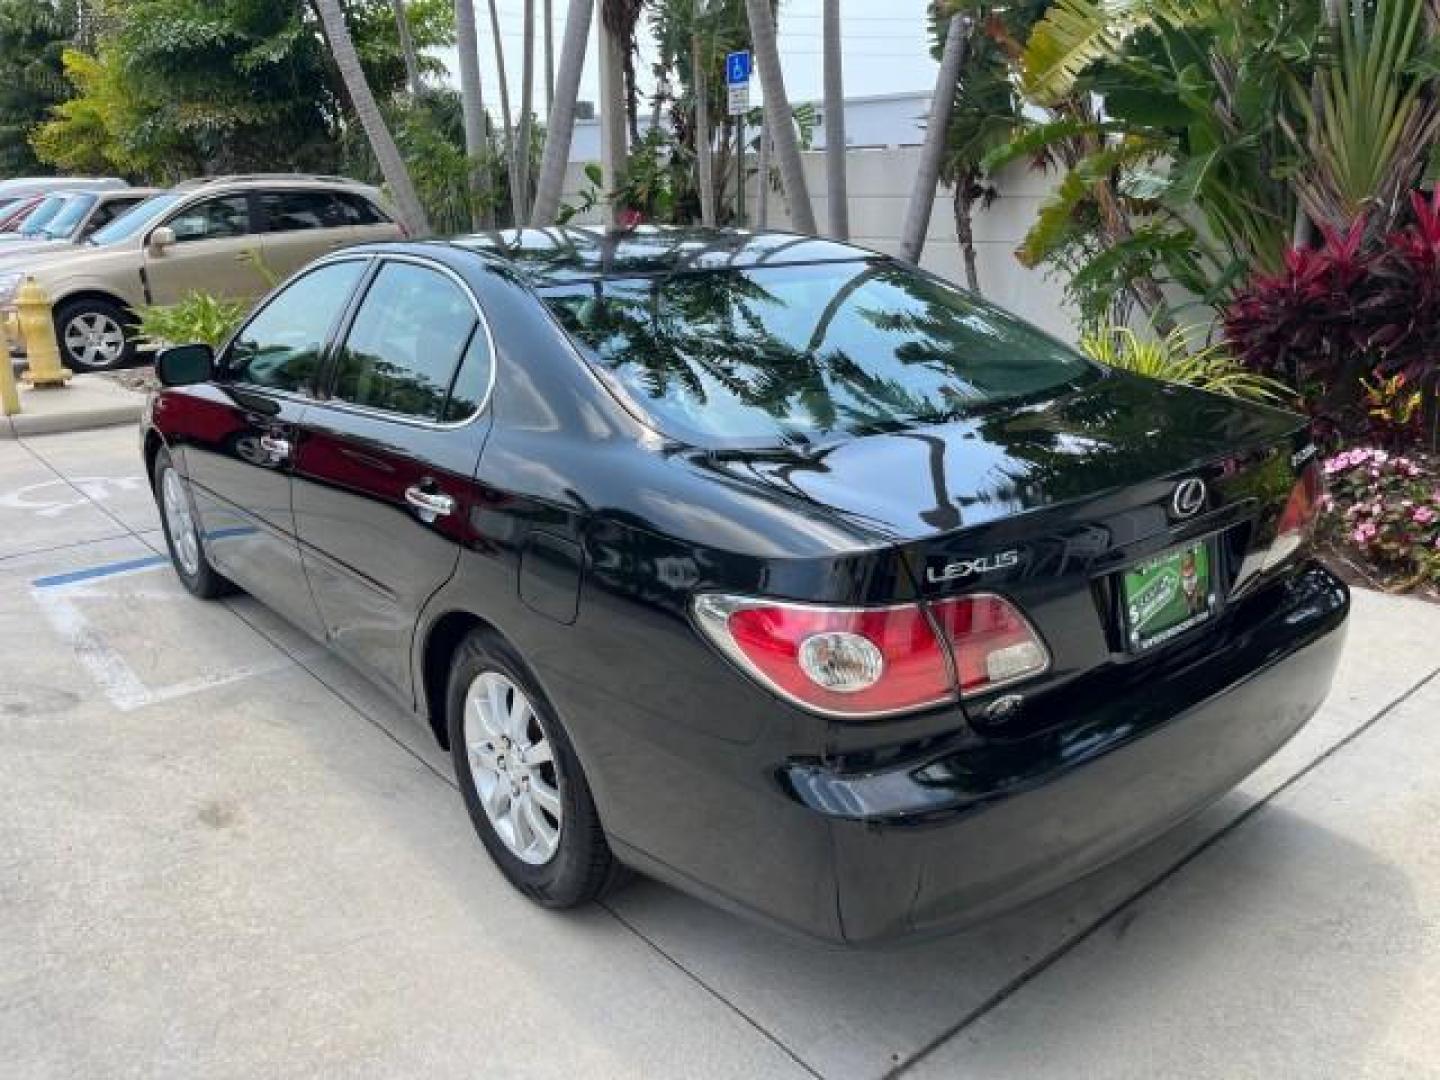
[[[523,863],[549,863],[564,818],[554,753],[530,698],[498,671],[465,691],[465,760],[495,835]]]

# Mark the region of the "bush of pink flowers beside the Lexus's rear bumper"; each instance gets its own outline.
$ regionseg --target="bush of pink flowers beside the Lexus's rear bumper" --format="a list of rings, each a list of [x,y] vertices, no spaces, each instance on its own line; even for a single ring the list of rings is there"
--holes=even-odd
[[[1374,446],[1325,462],[1323,531],[1356,549],[1394,589],[1440,586],[1440,480],[1414,458]]]

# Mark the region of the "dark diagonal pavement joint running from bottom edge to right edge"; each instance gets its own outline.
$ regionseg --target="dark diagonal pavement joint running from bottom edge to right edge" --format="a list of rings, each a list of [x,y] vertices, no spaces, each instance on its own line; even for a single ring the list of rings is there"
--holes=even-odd
[[[1214,832],[1211,832],[1208,837],[1205,837],[1205,840],[1202,840],[1200,844],[1197,844],[1194,848],[1191,848],[1191,851],[1188,851],[1187,854],[1184,854],[1171,867],[1168,867],[1166,870],[1162,870],[1159,874],[1156,874],[1153,878],[1151,878],[1149,881],[1146,881],[1145,884],[1142,884],[1139,888],[1136,888],[1128,897],[1125,897],[1123,900],[1120,900],[1119,903],[1116,903],[1113,907],[1110,907],[1107,912],[1104,912],[1103,914],[1100,914],[1099,917],[1096,917],[1089,926],[1086,926],[1083,930],[1080,930],[1080,933],[1077,933],[1073,937],[1061,942],[1053,950],[1050,950],[1048,953],[1045,953],[1044,956],[1041,956],[1040,959],[1037,959],[1034,963],[1031,963],[1028,968],[1025,968],[1020,975],[1017,975],[1014,979],[1011,979],[1009,982],[1007,982],[1004,986],[1001,986],[998,991],[995,991],[991,996],[988,996],[985,1001],[982,1001],[973,1009],[971,1009],[963,1017],[960,1017],[955,1024],[952,1024],[945,1031],[942,1031],[939,1035],[936,1035],[929,1043],[926,1043],[923,1047],[920,1047],[916,1053],[913,1053],[907,1058],[896,1063],[888,1071],[884,1073],[884,1076],[881,1077],[881,1080],[899,1080],[899,1077],[901,1077],[906,1073],[909,1073],[914,1066],[917,1066],[920,1061],[923,1061],[924,1058],[927,1058],[930,1054],[933,1054],[942,1045],[945,1045],[946,1043],[949,1043],[950,1040],[953,1040],[956,1035],[962,1034],[966,1028],[969,1028],[976,1021],[979,1021],[981,1018],[984,1018],[988,1012],[991,1012],[992,1009],[995,1009],[999,1005],[1005,1004],[1009,998],[1012,998],[1015,994],[1018,994],[1021,989],[1024,989],[1030,982],[1032,982],[1038,976],[1044,975],[1048,968],[1054,966],[1058,960],[1061,960],[1066,956],[1068,956],[1077,948],[1080,948],[1087,940],[1090,940],[1092,937],[1094,937],[1096,933],[1099,933],[1106,926],[1109,926],[1112,922],[1115,922],[1115,919],[1122,912],[1125,912],[1128,907],[1132,907],[1133,904],[1139,903],[1145,897],[1151,896],[1155,890],[1158,890],[1161,886],[1164,886],[1166,881],[1169,881],[1172,877],[1175,877],[1179,871],[1182,871],[1185,867],[1188,867],[1191,863],[1194,863],[1195,860],[1198,860],[1201,855],[1204,855],[1212,847],[1215,847],[1217,844],[1220,844],[1220,841],[1225,840],[1236,829],[1238,829],[1241,825],[1244,825],[1247,821],[1250,821],[1250,818],[1256,816],[1256,814],[1259,814],[1260,811],[1266,809],[1282,793],[1287,792],[1290,788],[1293,788],[1302,779],[1305,779],[1312,772],[1315,772],[1319,766],[1325,765],[1325,762],[1328,762],[1331,757],[1333,757],[1335,755],[1338,755],[1346,746],[1349,746],[1351,743],[1354,743],[1356,739],[1359,739],[1368,730],[1371,730],[1375,724],[1378,724],[1381,720],[1384,720],[1387,716],[1390,716],[1394,710],[1397,710],[1400,706],[1403,706],[1405,701],[1408,701],[1414,694],[1417,694],[1420,690],[1423,690],[1436,677],[1440,677],[1440,668],[1434,668],[1433,671],[1430,671],[1430,674],[1421,675],[1416,683],[1413,683],[1410,687],[1407,687],[1405,690],[1403,690],[1398,697],[1392,698],[1385,706],[1382,706],[1375,713],[1375,716],[1369,717],[1365,723],[1362,723],[1354,732],[1351,732],[1349,734],[1346,734],[1344,739],[1341,739],[1339,742],[1336,742],[1333,746],[1328,747],[1323,753],[1318,755],[1312,762],[1309,762],[1303,768],[1297,769],[1284,782],[1276,785],[1274,791],[1269,792],[1267,795],[1256,799],[1253,804],[1250,804],[1248,806],[1246,806],[1246,809],[1243,809],[1240,814],[1237,814],[1233,821],[1227,822],[1221,828],[1218,828]]]

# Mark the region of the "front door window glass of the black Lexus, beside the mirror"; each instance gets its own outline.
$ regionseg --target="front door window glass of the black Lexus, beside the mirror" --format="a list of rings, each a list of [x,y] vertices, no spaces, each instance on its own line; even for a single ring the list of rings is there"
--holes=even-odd
[[[330,328],[363,272],[363,261],[348,259],[292,281],[236,334],[225,374],[274,390],[310,389]]]

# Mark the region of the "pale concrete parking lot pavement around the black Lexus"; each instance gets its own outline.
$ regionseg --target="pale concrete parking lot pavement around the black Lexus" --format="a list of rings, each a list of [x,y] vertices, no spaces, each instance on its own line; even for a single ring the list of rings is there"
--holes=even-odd
[[[428,733],[183,593],[140,474],[131,429],[0,444],[7,1071],[1440,1076],[1440,608],[1358,595],[1323,713],[1135,857],[840,952],[520,899]]]

